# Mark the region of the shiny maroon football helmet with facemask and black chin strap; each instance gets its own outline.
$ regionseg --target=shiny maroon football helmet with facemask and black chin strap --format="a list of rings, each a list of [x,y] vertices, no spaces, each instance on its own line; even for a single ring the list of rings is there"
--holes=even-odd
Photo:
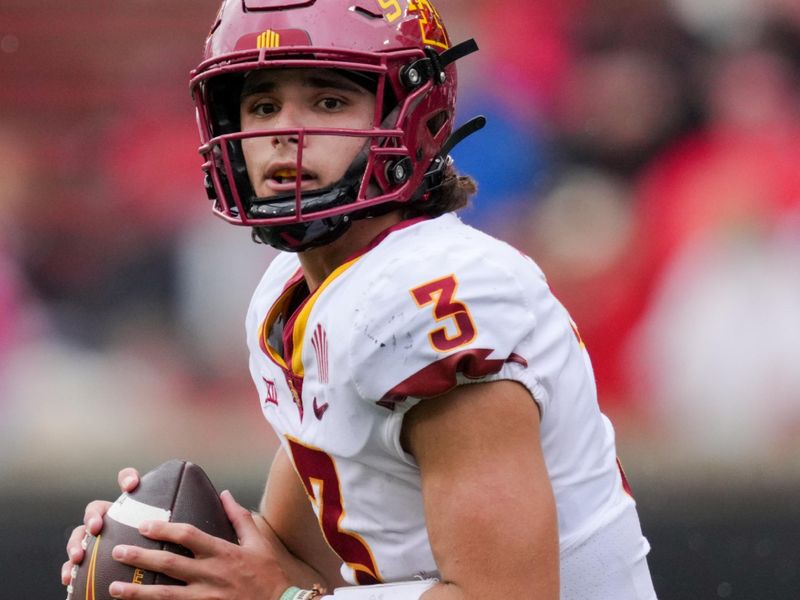
[[[450,44],[429,0],[224,0],[192,71],[191,89],[205,159],[206,189],[223,219],[255,227],[277,248],[300,251],[331,242],[352,219],[424,201],[441,182],[447,154],[470,122],[451,136],[456,59],[477,50]],[[367,130],[294,129],[241,132],[239,102],[247,72],[322,68],[369,82],[376,94]],[[314,135],[363,137],[365,150],[342,179],[324,189],[260,198],[247,175],[241,141],[258,136],[303,140]]]

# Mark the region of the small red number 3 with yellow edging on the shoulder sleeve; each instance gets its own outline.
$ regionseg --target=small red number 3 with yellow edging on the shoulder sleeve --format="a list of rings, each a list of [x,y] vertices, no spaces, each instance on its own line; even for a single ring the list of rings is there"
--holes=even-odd
[[[428,334],[431,346],[439,352],[448,352],[469,344],[477,334],[466,305],[455,299],[457,288],[455,275],[448,275],[411,290],[417,306],[433,304],[433,318],[437,322],[448,321],[452,326],[451,332],[448,332],[446,326],[442,326]]]

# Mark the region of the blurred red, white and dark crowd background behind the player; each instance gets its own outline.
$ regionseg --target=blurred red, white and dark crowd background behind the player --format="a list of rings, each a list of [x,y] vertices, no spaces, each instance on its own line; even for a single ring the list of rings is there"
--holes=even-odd
[[[436,5],[481,46],[462,216],[578,323],[657,589],[798,597],[800,2]],[[119,467],[184,456],[255,499],[275,449],[243,325],[274,252],[211,216],[188,93],[217,6],[0,0],[0,504],[67,498],[53,556],[25,546],[50,585]]]

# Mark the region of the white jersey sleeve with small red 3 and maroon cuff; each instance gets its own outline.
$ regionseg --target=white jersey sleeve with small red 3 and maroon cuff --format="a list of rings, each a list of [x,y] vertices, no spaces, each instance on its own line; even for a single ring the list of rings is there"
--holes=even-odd
[[[519,380],[536,394],[526,348],[537,292],[529,288],[547,286],[532,261],[509,254],[385,265],[355,311],[350,361],[361,397],[404,411],[495,379]]]

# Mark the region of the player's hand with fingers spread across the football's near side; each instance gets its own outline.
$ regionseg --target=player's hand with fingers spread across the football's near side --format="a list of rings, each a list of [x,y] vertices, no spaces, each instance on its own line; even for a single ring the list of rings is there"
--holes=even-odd
[[[279,559],[285,550],[277,538],[271,538],[258,529],[250,511],[239,505],[230,492],[222,492],[220,497],[236,530],[239,545],[185,523],[144,522],[139,527],[142,535],[179,544],[189,549],[194,558],[124,545],[114,547],[112,556],[127,565],[184,581],[186,586],[136,585],[117,581],[109,588],[111,596],[125,600],[278,598],[290,584]]]

